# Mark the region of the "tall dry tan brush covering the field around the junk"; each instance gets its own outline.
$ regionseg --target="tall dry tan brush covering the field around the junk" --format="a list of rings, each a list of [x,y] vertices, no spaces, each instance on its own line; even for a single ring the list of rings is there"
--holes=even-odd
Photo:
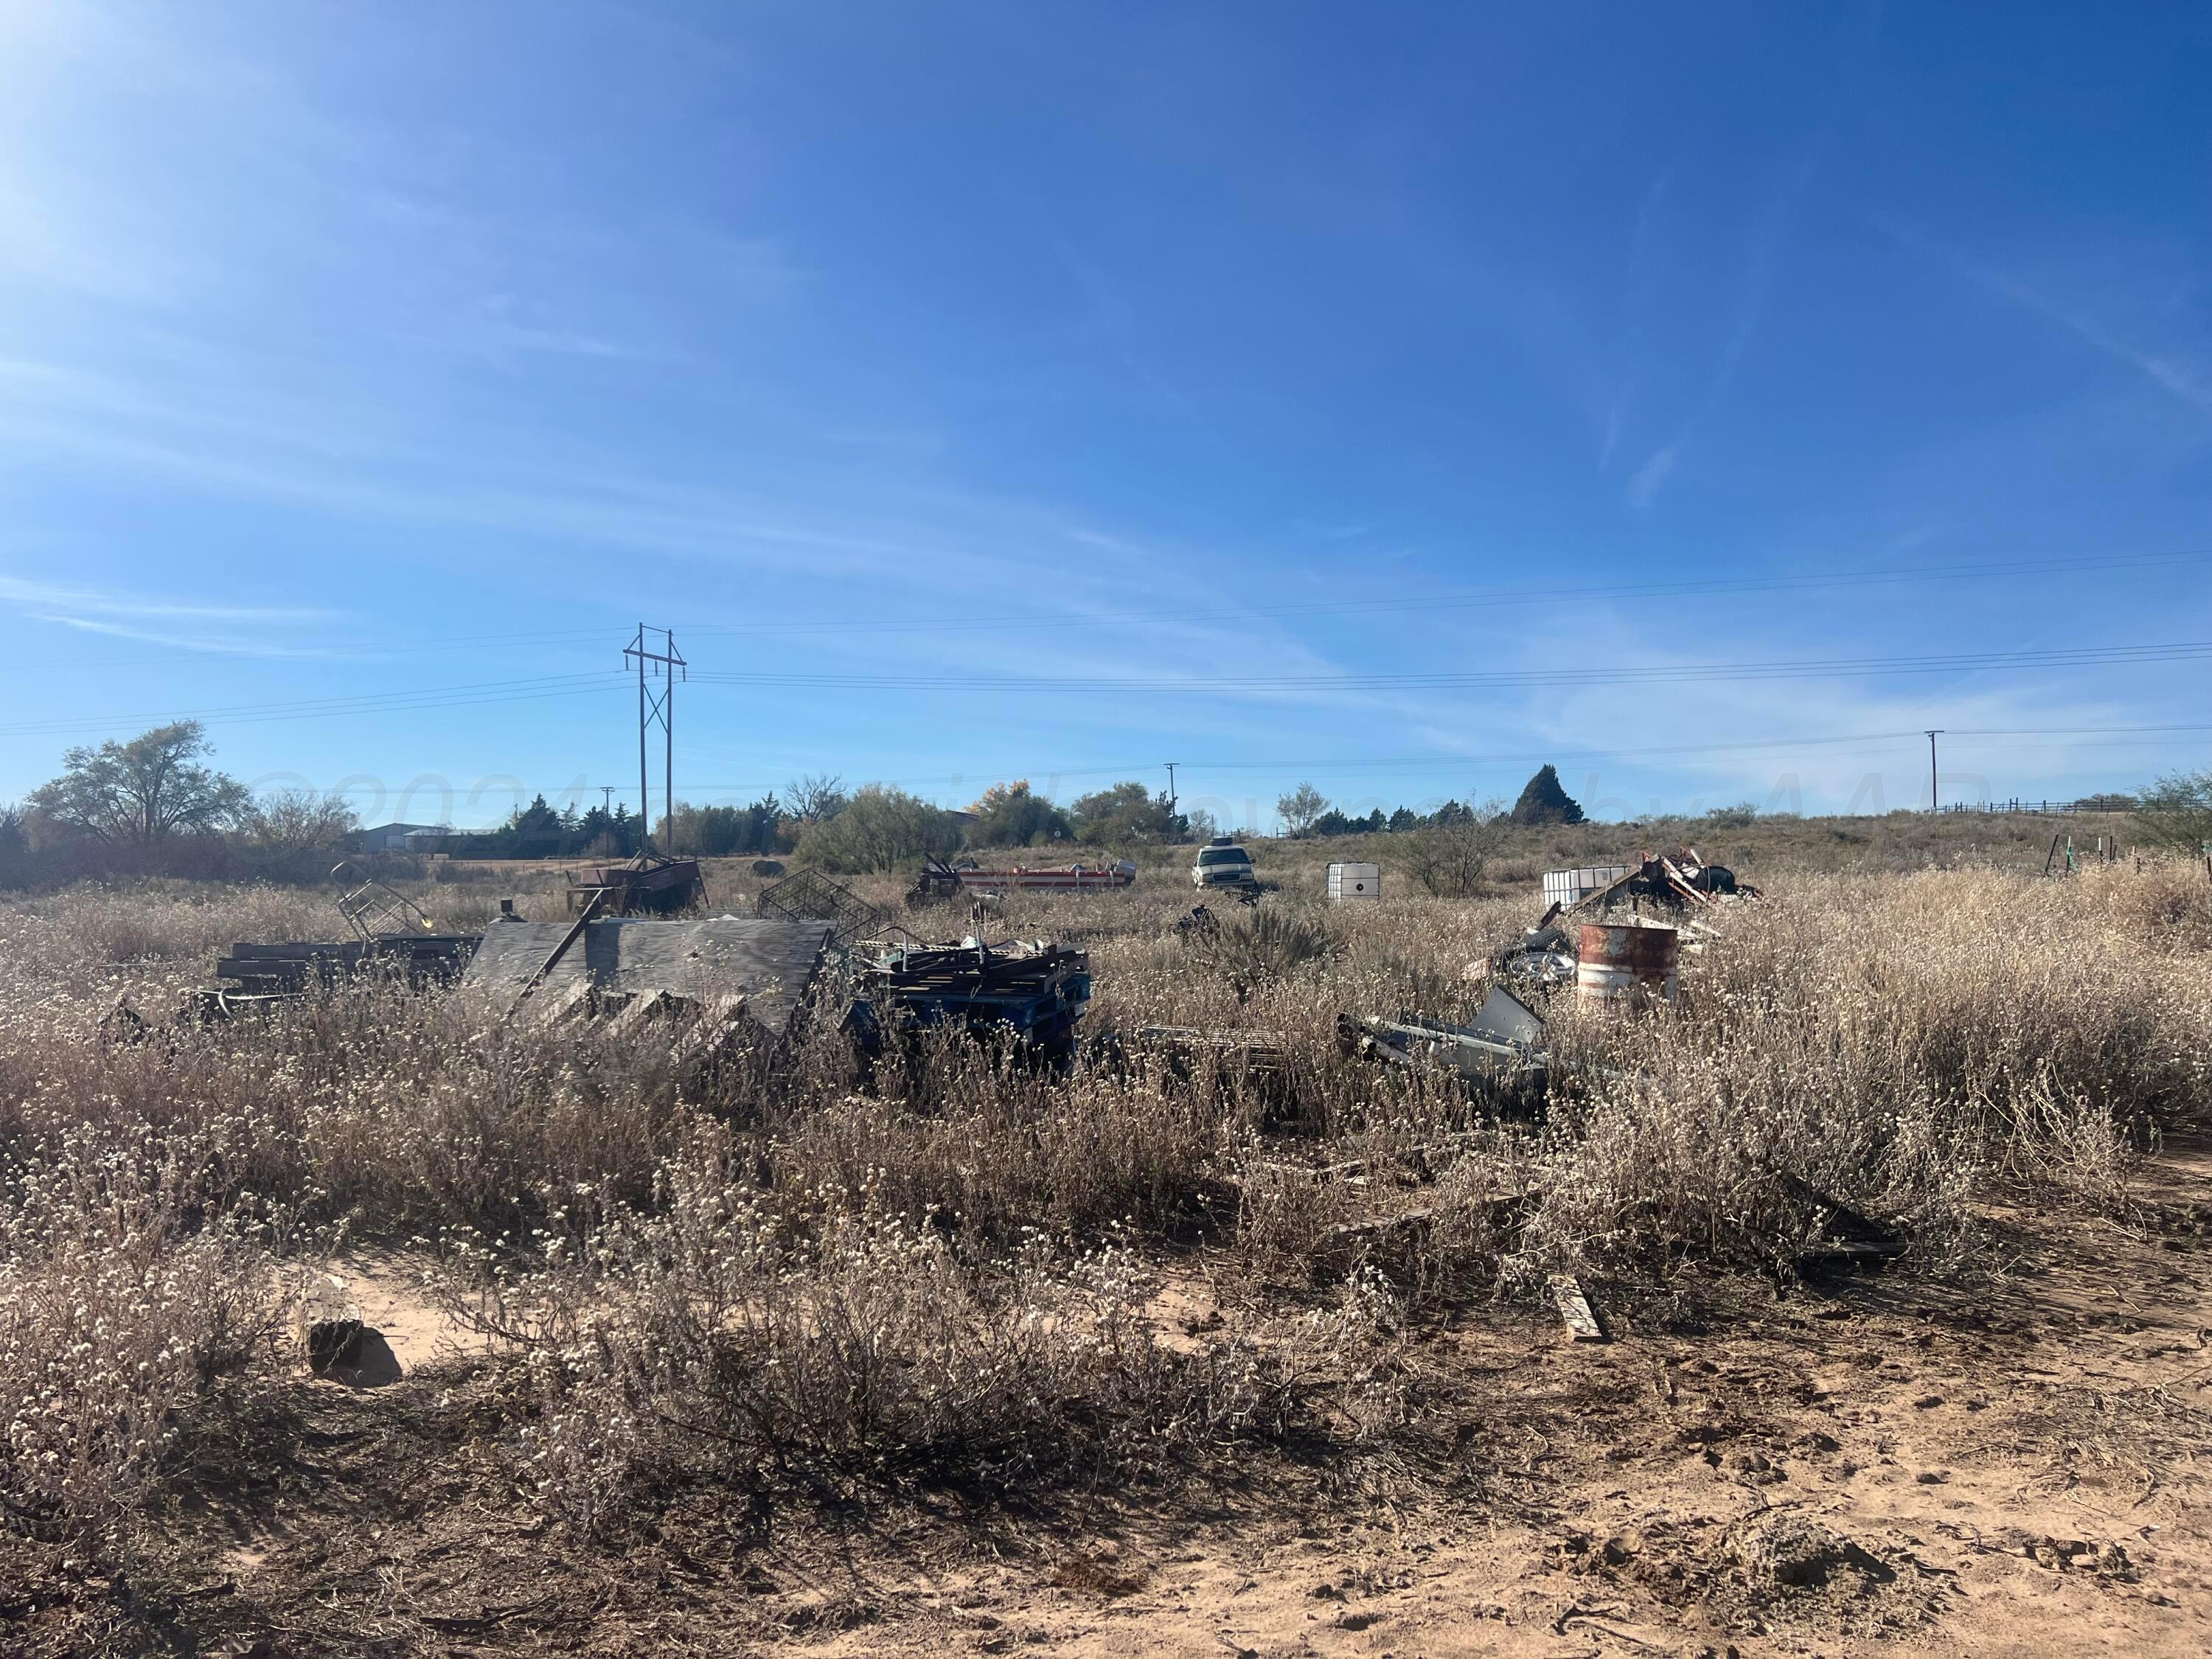
[[[774,1066],[686,1073],[650,1031],[378,984],[106,1042],[119,993],[159,1015],[230,940],[327,933],[325,900],[0,905],[0,1520],[139,1524],[192,1402],[279,1376],[279,1274],[341,1230],[442,1241],[445,1294],[535,1402],[531,1489],[608,1533],[679,1489],[1387,1449],[1427,1387],[1409,1323],[1557,1267],[1787,1276],[1836,1206],[1902,1237],[1902,1272],[1951,1272],[1984,1197],[2126,1217],[2159,1128],[2212,1115],[2201,876],[1761,876],[1681,1006],[1553,1004],[1542,1121],[1336,1037],[1347,1011],[1467,1018],[1526,896],[1272,894],[1212,942],[1172,929],[1188,889],[1013,896],[995,927],[1091,951],[1071,1073],[945,1033],[865,1062],[834,1018]],[[1144,1026],[1272,1071],[1170,1066]],[[1219,1318],[1164,1312],[1164,1276]]]

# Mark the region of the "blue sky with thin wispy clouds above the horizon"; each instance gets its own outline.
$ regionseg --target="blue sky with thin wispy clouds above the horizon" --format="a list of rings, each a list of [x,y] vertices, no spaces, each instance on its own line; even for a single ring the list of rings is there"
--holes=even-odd
[[[597,801],[639,622],[690,799],[2199,768],[2208,82],[2179,4],[0,0],[0,799],[204,714]]]

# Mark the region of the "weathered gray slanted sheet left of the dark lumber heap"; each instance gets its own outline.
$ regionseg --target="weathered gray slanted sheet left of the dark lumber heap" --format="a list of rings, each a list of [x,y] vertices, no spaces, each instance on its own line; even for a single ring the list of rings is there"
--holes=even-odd
[[[487,927],[462,984],[480,984],[509,998],[520,993],[568,927],[571,922]],[[830,922],[754,916],[586,922],[584,938],[553,964],[535,998],[553,1000],[586,975],[604,991],[668,991],[699,1002],[741,993],[752,1020],[781,1033],[821,964],[830,931]]]

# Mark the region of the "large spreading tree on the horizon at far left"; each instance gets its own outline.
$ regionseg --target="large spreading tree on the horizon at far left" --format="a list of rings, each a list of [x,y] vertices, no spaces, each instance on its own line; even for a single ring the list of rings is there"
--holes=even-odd
[[[212,752],[199,721],[155,726],[97,750],[73,748],[62,754],[62,776],[31,790],[24,805],[64,838],[148,845],[212,834],[252,805],[243,783],[199,763]]]

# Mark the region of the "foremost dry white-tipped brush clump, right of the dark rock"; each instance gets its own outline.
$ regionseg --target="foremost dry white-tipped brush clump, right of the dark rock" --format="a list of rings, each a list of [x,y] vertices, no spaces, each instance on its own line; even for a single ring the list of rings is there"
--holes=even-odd
[[[686,1161],[650,1210],[540,1241],[526,1272],[449,1234],[442,1283],[522,1356],[538,1498],[588,1531],[699,1484],[849,1498],[1157,1478],[1279,1442],[1321,1396],[1363,1436],[1405,1422],[1371,1356],[1391,1321],[1380,1287],[1179,1352],[1119,1230],[1086,1245],[1024,1230],[978,1259],[936,1221],[874,1188],[770,1201]]]

